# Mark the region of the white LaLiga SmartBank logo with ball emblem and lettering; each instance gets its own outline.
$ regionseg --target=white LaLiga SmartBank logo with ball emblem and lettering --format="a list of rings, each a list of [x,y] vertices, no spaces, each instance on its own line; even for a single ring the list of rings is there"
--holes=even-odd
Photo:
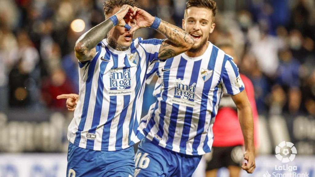
[[[276,157],[282,163],[292,162],[297,154],[293,143],[282,141],[276,146]],[[309,177],[308,173],[297,173],[297,166],[292,165],[275,165],[275,172],[270,174],[268,171],[263,177]]]

